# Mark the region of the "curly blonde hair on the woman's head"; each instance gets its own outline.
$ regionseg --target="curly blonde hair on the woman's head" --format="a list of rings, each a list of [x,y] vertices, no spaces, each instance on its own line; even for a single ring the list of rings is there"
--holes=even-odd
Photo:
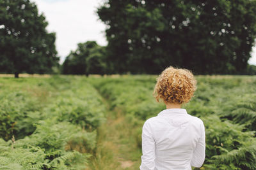
[[[196,90],[196,80],[188,69],[167,67],[157,78],[154,96],[164,103],[188,103]]]

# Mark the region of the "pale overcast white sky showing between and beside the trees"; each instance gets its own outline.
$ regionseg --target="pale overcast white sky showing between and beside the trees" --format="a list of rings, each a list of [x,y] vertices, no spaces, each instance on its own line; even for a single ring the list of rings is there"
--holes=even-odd
[[[49,25],[47,30],[56,32],[56,48],[65,60],[70,50],[76,50],[77,43],[95,40],[107,45],[104,30],[96,14],[97,7],[105,0],[31,0],[44,13]],[[249,64],[256,65],[256,47],[253,48]]]

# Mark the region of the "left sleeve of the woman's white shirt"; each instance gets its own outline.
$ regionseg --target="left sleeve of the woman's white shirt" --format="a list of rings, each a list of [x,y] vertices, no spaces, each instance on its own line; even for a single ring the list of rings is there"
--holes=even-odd
[[[146,121],[142,129],[142,156],[141,156],[141,170],[155,169],[155,140],[150,132],[150,126]]]

